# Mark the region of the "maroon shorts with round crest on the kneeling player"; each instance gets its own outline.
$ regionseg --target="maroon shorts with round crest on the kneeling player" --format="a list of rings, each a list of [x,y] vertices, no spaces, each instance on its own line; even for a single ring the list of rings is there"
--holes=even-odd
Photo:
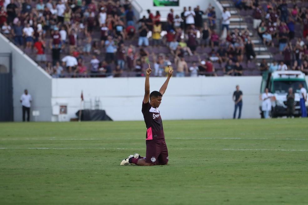
[[[146,140],[146,163],[163,165],[169,161],[165,139]]]

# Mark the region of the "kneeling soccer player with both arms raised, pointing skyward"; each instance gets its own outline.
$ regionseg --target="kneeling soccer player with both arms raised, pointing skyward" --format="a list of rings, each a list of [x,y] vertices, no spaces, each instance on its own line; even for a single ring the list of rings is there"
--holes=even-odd
[[[146,157],[140,157],[139,154],[130,155],[124,159],[120,165],[136,164],[139,166],[167,165],[168,149],[165,142],[164,129],[162,127],[162,118],[159,112],[159,105],[162,102],[162,96],[166,92],[169,80],[173,70],[168,70],[168,77],[165,83],[158,91],[150,94],[150,74],[152,69],[146,69],[145,93],[142,102],[142,114],[146,123]]]

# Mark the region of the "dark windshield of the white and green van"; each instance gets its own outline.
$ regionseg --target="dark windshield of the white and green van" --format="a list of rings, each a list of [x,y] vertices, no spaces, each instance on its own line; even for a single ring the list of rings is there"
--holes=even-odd
[[[274,81],[274,93],[288,93],[289,88],[293,88],[293,93],[299,93],[300,83],[303,83],[304,88],[307,90],[307,85],[305,81],[292,81],[292,80],[283,80],[283,81]]]

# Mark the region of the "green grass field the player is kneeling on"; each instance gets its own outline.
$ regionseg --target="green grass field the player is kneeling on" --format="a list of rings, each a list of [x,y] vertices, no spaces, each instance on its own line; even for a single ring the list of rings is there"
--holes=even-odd
[[[308,119],[164,121],[167,166],[144,122],[0,123],[0,204],[307,204]]]

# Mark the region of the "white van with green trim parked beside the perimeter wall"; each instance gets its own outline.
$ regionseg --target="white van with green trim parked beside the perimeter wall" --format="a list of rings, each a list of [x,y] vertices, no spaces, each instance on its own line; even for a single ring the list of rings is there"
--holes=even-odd
[[[293,88],[295,94],[295,112],[294,116],[300,116],[300,89],[299,84],[303,83],[307,90],[305,74],[300,71],[275,71],[268,77],[262,79],[260,93],[264,93],[265,88],[269,88],[269,92],[275,95],[276,101],[272,102],[272,118],[287,115],[287,94],[289,88]],[[308,102],[306,102],[308,108]],[[261,111],[261,106],[260,106]],[[263,112],[260,113],[263,118]]]

